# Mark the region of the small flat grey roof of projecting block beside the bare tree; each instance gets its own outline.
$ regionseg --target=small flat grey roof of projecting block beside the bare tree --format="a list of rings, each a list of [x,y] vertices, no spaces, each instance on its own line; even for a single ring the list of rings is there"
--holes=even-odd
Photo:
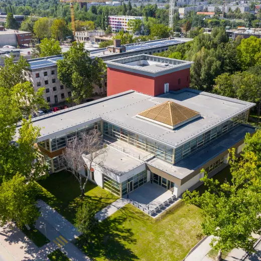
[[[143,161],[128,156],[126,153],[116,150],[111,146],[107,146],[105,154],[99,155],[93,162],[101,166],[104,171],[107,170],[119,177],[144,164]],[[102,165],[100,162],[102,162]]]

